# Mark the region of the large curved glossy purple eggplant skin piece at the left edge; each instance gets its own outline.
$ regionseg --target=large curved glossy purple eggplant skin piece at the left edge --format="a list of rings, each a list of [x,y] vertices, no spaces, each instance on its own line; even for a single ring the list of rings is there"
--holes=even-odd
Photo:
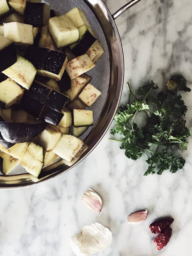
[[[47,126],[47,123],[13,123],[0,121],[2,138],[10,143],[27,142],[39,135]]]

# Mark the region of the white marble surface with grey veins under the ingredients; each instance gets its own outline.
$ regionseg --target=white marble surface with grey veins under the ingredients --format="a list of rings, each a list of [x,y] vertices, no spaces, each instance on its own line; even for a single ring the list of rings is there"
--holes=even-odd
[[[114,12],[126,0],[106,0]],[[192,81],[191,0],[142,0],[116,20],[125,54],[125,82],[136,89],[148,79],[159,84],[173,72]],[[191,95],[187,119],[192,126]],[[122,103],[126,102],[124,86]],[[126,159],[109,132],[76,168],[44,184],[0,191],[1,256],[73,256],[69,238],[94,222],[110,228],[112,246],[98,256],[191,256],[192,140],[183,155],[185,168],[176,174],[143,176],[145,158]],[[104,201],[100,216],[87,209],[81,195],[91,187]],[[128,225],[127,216],[149,210],[146,222]],[[158,252],[148,225],[157,217],[173,216],[170,243]]]

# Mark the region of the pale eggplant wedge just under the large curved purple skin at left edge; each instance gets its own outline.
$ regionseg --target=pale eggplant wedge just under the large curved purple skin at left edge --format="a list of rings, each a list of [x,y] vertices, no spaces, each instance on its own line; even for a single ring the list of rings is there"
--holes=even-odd
[[[21,159],[25,154],[28,146],[29,146],[29,143],[24,142],[24,143],[15,144],[14,146],[6,149],[4,146],[2,146],[2,144],[0,144],[0,150],[12,157]]]

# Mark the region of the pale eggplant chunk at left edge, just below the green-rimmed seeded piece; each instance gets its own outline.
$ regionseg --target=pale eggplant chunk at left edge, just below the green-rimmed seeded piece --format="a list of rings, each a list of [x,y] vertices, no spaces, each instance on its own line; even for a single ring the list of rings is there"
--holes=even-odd
[[[10,78],[0,83],[0,107],[7,109],[22,99],[24,90]],[[1,103],[2,102],[2,103]]]

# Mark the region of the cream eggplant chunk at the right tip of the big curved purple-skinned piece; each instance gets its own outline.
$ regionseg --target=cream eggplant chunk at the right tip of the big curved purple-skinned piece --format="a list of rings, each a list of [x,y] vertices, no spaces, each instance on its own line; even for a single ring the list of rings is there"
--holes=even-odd
[[[57,142],[61,139],[61,132],[57,128],[47,125],[45,130],[33,139],[35,143],[41,145],[45,150],[52,150]]]

